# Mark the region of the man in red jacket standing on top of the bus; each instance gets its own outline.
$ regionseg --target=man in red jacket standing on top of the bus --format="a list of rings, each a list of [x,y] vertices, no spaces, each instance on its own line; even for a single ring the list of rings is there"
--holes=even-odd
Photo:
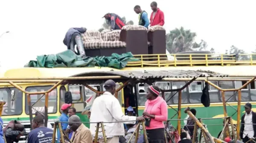
[[[150,6],[153,11],[150,16],[150,26],[154,26],[154,25],[163,26],[164,25],[163,11],[157,8],[157,2],[152,2]]]

